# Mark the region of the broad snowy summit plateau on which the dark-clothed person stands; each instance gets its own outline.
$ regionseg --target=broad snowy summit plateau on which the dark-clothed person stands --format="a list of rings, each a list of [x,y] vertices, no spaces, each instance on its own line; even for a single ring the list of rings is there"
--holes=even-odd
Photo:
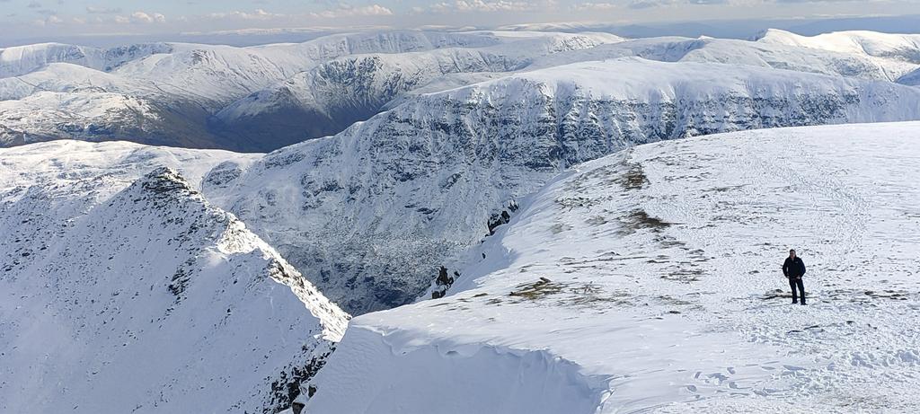
[[[917,122],[577,166],[447,297],[352,320],[305,412],[914,412],[918,171]],[[789,305],[789,247],[809,306]]]

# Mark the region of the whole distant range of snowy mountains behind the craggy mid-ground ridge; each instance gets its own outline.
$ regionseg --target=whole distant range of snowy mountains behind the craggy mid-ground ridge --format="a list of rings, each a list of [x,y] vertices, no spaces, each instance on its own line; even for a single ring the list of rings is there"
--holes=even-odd
[[[569,63],[638,56],[914,85],[918,53],[912,35],[781,30],[753,41],[389,30],[245,48],[45,43],[0,51],[0,145],[69,138],[263,152],[423,93]]]

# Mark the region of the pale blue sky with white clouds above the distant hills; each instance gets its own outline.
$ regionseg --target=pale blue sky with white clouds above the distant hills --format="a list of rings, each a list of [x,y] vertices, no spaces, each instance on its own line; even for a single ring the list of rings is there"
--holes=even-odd
[[[920,15],[920,0],[0,0],[0,44],[236,30]]]

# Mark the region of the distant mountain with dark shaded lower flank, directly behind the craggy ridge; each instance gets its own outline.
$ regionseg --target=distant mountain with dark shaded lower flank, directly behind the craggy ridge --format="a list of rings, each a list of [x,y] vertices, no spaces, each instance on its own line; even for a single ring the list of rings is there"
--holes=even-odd
[[[604,34],[515,35],[489,47],[334,59],[225,107],[216,114],[213,126],[227,134],[295,144],[341,132],[380,112],[390,100],[443,75],[511,72],[546,54],[622,40]]]

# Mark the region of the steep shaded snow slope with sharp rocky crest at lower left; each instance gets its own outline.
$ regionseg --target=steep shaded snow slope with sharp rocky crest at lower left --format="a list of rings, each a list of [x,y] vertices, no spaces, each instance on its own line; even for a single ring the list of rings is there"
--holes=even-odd
[[[0,411],[290,405],[347,316],[169,168],[197,183],[252,159],[66,141],[0,150]]]

